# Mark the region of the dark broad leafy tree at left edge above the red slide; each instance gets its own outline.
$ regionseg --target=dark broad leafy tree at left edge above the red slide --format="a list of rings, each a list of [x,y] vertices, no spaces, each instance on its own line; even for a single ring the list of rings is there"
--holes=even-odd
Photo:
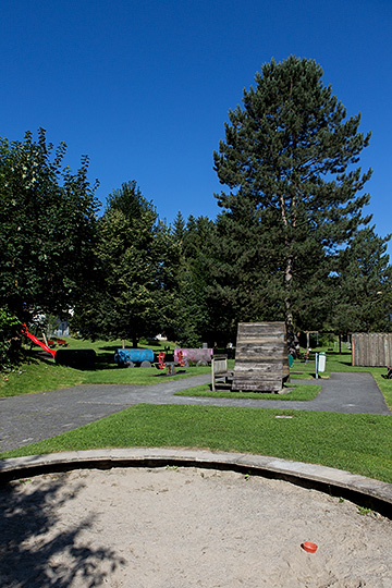
[[[0,305],[26,320],[37,309],[62,315],[89,286],[96,233],[96,186],[88,158],[62,169],[66,146],[0,140]],[[26,317],[27,315],[27,317]]]

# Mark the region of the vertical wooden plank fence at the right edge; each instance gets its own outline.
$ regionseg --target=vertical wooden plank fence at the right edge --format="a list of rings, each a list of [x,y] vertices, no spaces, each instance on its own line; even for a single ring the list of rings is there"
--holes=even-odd
[[[392,366],[392,333],[354,333],[353,366]]]

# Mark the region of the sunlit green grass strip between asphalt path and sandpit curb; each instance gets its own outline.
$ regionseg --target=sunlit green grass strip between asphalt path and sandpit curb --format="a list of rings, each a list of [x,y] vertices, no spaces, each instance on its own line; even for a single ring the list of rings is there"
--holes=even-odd
[[[322,464],[392,483],[391,437],[389,416],[139,404],[0,457],[99,448],[199,448]]]

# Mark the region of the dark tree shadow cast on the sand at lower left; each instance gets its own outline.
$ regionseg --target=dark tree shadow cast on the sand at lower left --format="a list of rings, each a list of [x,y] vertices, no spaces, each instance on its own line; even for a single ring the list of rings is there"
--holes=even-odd
[[[94,514],[65,527],[59,510],[77,500],[84,485],[70,494],[66,474],[11,481],[0,486],[0,586],[65,588],[77,576],[91,588],[109,580],[124,565],[107,547],[90,547],[86,530]]]

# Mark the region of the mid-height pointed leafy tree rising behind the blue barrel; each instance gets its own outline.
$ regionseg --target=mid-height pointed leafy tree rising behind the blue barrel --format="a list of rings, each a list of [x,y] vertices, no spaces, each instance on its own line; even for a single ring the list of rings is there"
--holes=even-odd
[[[171,287],[169,229],[137,187],[122,184],[108,198],[98,223],[95,295],[77,307],[74,324],[103,339],[133,339],[170,329]]]

